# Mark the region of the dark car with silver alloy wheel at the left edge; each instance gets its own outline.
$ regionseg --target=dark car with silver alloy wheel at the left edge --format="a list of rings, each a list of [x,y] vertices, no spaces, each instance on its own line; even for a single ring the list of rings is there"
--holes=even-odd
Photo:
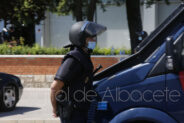
[[[15,109],[23,91],[23,86],[18,77],[0,73],[0,111]]]

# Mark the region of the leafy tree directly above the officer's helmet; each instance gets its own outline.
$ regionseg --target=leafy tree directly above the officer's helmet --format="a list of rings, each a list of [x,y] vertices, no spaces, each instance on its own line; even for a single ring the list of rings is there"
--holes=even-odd
[[[87,19],[94,20],[96,4],[100,0],[56,0],[51,11],[59,15],[68,15],[72,13],[76,21]]]

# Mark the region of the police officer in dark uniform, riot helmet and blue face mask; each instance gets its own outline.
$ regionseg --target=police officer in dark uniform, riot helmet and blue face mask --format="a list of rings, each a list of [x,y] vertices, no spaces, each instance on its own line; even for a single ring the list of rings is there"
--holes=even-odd
[[[92,89],[93,64],[90,53],[96,46],[96,36],[106,27],[94,22],[81,21],[69,32],[71,51],[66,54],[51,85],[53,116],[62,123],[85,123],[90,101],[85,92]],[[83,93],[81,93],[83,92]]]

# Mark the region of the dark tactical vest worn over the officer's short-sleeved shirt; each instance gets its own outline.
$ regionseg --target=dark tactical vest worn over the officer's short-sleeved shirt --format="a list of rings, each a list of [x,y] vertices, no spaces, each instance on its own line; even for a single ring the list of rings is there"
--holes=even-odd
[[[89,56],[82,53],[81,49],[75,48],[66,54],[63,59],[63,62],[67,58],[74,58],[77,60],[82,67],[81,76],[78,76],[76,80],[72,79],[72,82],[69,82],[66,86],[64,86],[64,90],[69,95],[70,100],[73,101],[74,107],[78,110],[87,110],[89,107],[89,103],[86,99],[86,92],[92,90],[92,82],[93,82],[93,64]],[[69,91],[68,91],[69,90]],[[83,92],[83,94],[81,93]],[[74,96],[75,95],[75,96]],[[85,96],[85,97],[84,97]],[[85,98],[85,100],[83,100]]]

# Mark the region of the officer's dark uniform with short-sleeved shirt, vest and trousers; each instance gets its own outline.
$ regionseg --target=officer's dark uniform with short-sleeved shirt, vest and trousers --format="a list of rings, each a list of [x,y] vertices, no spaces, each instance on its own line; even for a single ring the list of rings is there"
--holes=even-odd
[[[71,102],[69,109],[66,105],[59,104],[61,121],[71,123],[84,123],[87,121],[87,111],[89,103],[84,98],[84,93],[92,89],[92,72],[93,64],[90,55],[85,53],[80,48],[75,48],[70,51],[63,59],[62,65],[59,67],[55,79],[64,82],[63,91],[65,92],[65,103],[68,105]],[[62,100],[63,101],[63,100]],[[65,110],[71,110],[71,115],[65,118]],[[68,114],[67,114],[68,115]]]

